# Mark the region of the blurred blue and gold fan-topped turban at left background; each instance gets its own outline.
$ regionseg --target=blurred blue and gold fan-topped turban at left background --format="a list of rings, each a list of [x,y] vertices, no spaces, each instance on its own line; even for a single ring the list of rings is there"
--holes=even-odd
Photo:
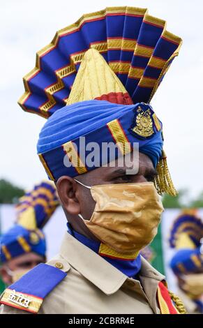
[[[58,205],[57,191],[50,181],[43,181],[21,197],[16,207],[16,224],[0,237],[0,262],[30,252],[45,256],[46,241],[41,228]]]

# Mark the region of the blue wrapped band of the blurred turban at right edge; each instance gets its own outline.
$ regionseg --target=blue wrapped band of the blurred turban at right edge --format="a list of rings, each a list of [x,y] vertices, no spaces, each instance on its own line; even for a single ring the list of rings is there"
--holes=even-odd
[[[202,264],[202,268],[199,265],[197,266],[196,262],[193,260],[193,256],[197,257],[198,262]],[[181,264],[181,268],[184,269],[184,272],[181,271],[179,264]],[[203,269],[203,260],[200,253],[200,248],[195,250],[183,249],[176,252],[170,262],[170,266],[176,275],[200,272]]]

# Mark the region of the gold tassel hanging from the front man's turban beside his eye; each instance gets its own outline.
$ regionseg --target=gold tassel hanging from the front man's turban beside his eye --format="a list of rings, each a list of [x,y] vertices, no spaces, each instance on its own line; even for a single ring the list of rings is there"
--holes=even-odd
[[[176,196],[178,193],[174,188],[174,184],[170,176],[165,151],[162,151],[162,158],[160,158],[160,160],[158,161],[156,171],[158,175],[154,179],[154,184],[158,193],[160,195],[162,195],[163,193],[167,193],[168,195]]]

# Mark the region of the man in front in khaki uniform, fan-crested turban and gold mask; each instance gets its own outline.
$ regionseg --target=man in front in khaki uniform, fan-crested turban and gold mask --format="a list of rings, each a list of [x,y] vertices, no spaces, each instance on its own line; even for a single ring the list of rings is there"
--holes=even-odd
[[[38,52],[20,105],[50,117],[38,155],[68,232],[56,258],[1,295],[3,313],[185,312],[140,256],[160,222],[158,192],[175,194],[149,101],[180,45],[146,9],[116,7],[84,15]]]

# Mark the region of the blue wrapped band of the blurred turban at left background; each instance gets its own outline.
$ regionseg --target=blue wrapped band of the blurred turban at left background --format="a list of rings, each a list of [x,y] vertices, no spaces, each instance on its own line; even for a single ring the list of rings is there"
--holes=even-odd
[[[38,235],[38,243],[36,244],[32,244],[32,232]],[[18,237],[23,237],[25,241],[27,241],[27,244],[30,246],[30,252],[45,256],[46,241],[42,230],[40,230],[40,234],[38,234],[38,230],[27,230],[21,225],[14,225],[13,228],[10,228],[10,230],[1,235],[1,262],[8,261],[8,258],[6,258],[6,254],[3,251],[3,245],[6,246],[11,258],[16,258],[17,256],[27,253],[26,251],[24,251],[24,248],[22,248],[19,241],[17,240]]]

